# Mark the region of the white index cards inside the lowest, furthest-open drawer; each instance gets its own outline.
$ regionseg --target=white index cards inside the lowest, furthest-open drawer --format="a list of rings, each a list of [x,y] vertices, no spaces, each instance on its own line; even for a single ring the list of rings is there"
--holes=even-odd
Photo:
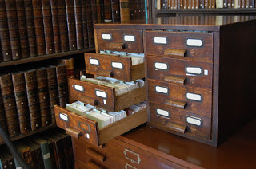
[[[122,120],[126,116],[134,114],[135,112],[138,112],[143,108],[146,108],[146,101],[135,104],[129,108],[126,108],[126,110],[121,110],[118,112],[107,112],[102,108],[95,108],[90,104],[84,104],[80,101],[76,101],[72,104],[66,104],[66,109],[70,112],[74,112],[78,115],[86,116],[91,120],[97,121],[98,129],[102,129],[109,124],[113,124],[118,120]]]

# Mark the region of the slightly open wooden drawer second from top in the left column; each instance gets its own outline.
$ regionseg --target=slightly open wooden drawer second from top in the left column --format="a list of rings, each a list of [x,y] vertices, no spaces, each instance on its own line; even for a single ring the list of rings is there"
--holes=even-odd
[[[144,63],[132,65],[130,57],[85,53],[86,73],[135,81],[145,77]]]

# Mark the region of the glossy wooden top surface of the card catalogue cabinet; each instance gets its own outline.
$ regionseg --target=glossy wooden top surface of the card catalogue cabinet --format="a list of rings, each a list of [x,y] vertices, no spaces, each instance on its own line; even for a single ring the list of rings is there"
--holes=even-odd
[[[256,24],[256,16],[182,16],[158,17],[127,22],[94,24],[95,29],[172,29],[219,31],[223,26],[232,24]]]

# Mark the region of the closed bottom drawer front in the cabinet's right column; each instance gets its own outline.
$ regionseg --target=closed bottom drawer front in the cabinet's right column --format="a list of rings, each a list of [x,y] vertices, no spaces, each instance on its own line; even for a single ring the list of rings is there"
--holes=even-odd
[[[150,123],[161,125],[170,132],[211,139],[211,118],[150,103]]]

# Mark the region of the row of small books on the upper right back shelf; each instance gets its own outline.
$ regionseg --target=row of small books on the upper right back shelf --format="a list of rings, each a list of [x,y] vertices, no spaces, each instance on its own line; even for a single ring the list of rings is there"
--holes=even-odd
[[[255,0],[156,0],[156,9],[255,8]]]

